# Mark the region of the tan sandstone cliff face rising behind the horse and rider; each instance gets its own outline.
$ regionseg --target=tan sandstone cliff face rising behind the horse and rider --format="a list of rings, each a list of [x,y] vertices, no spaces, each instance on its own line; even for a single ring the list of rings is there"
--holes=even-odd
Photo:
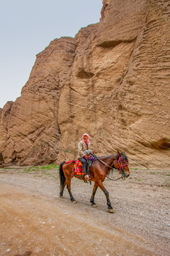
[[[22,165],[77,156],[84,132],[98,156],[170,167],[170,4],[103,0],[101,21],[37,55],[16,102],[0,110],[0,153]]]

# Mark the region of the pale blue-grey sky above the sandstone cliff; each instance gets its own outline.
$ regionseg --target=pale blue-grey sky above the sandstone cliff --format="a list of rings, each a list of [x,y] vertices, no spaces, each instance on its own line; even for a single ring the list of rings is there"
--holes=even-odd
[[[35,55],[99,22],[102,0],[0,0],[0,107],[21,96]]]

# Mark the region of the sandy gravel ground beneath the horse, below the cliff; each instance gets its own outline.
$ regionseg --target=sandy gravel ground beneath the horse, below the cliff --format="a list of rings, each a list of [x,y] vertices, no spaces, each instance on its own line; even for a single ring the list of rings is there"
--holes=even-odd
[[[0,169],[0,255],[169,255],[170,171],[131,170],[125,181],[104,181],[115,213],[93,183],[72,179],[59,198],[58,171]]]

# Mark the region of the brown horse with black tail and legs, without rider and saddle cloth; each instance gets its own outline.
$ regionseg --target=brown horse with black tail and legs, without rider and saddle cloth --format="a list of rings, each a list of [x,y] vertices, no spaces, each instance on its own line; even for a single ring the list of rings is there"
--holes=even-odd
[[[60,198],[63,198],[64,187],[67,185],[67,189],[69,191],[69,196],[72,203],[77,203],[71,192],[71,179],[73,176],[74,164],[74,162],[62,162],[62,164],[60,164]],[[113,213],[113,208],[111,206],[111,201],[108,196],[108,191],[103,186],[103,181],[105,180],[106,175],[109,173],[109,171],[111,171],[111,169],[113,168],[118,169],[125,178],[130,175],[130,171],[128,168],[128,158],[124,152],[120,153],[118,151],[118,154],[98,157],[96,161],[93,161],[90,168],[90,180],[94,181],[94,189],[90,201],[91,206],[96,207],[96,203],[94,203],[94,196],[97,188],[99,187],[106,195],[108,211],[110,213]]]

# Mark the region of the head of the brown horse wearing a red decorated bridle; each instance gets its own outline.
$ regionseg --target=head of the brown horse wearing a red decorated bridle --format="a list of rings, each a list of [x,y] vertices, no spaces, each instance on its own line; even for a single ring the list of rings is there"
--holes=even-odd
[[[128,157],[125,155],[124,152],[120,153],[115,156],[115,161],[113,162],[116,169],[118,169],[124,178],[128,178],[130,176],[130,170],[128,167]]]

